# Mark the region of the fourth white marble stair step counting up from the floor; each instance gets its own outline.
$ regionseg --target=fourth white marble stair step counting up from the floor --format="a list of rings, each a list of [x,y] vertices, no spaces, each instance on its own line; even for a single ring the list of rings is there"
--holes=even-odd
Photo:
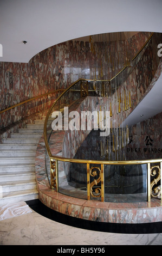
[[[17,163],[17,164],[1,164],[0,165],[0,173],[10,173],[10,172],[35,172],[35,164],[29,163]]]

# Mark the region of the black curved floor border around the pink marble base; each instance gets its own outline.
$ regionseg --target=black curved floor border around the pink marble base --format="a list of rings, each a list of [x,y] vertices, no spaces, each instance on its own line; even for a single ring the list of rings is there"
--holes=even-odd
[[[162,222],[153,223],[140,223],[140,224],[128,224],[128,223],[105,223],[97,221],[82,220],[80,218],[61,214],[54,211],[42,204],[39,199],[26,201],[31,209],[38,214],[49,218],[50,220],[66,224],[72,227],[102,231],[108,233],[121,233],[121,234],[155,234],[162,233]]]

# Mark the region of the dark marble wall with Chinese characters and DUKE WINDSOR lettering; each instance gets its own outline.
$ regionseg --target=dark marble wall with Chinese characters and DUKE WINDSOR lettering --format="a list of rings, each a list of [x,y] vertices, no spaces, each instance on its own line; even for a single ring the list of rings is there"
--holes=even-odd
[[[162,112],[129,129],[126,160],[162,158]]]

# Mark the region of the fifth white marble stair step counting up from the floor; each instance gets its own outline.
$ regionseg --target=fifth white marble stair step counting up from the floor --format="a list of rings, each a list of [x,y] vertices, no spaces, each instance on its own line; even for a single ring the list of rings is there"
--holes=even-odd
[[[32,156],[10,156],[10,157],[4,157],[0,156],[0,166],[1,164],[10,164],[10,163],[35,163],[35,157]]]

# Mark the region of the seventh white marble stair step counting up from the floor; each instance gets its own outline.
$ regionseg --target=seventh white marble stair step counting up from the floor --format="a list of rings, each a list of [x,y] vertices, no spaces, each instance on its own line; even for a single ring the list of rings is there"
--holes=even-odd
[[[24,150],[24,149],[32,149],[32,150],[36,150],[37,148],[37,143],[36,144],[0,144],[0,150],[4,150],[4,149],[9,149],[9,150]]]

